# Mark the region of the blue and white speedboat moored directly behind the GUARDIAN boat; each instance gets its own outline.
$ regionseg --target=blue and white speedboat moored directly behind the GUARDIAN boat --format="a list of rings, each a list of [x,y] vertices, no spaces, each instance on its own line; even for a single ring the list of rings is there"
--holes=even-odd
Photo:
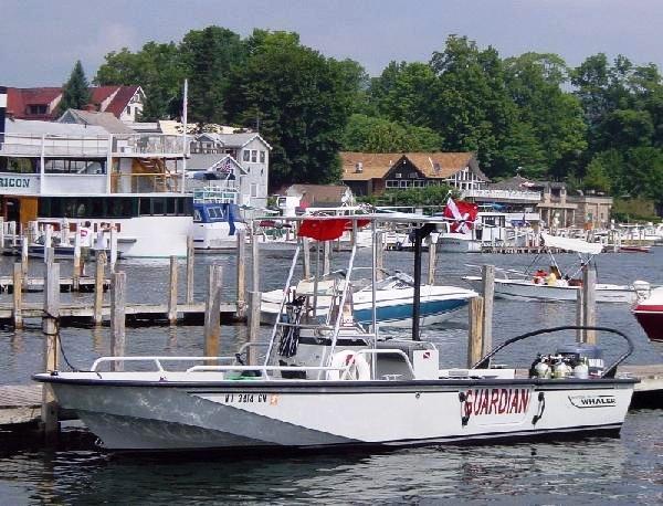
[[[291,288],[291,298],[306,296],[312,299],[317,293],[315,312],[318,316],[326,315],[333,303],[332,293],[337,291],[334,280],[319,280],[317,291],[314,280],[304,280]],[[361,285],[361,283],[359,283]],[[467,305],[477,295],[472,289],[457,286],[421,285],[421,325],[444,321],[455,312]],[[414,280],[402,272],[396,272],[376,285],[376,310],[380,327],[409,327],[412,325],[412,301],[414,296]],[[261,321],[274,323],[283,292],[280,289],[264,293],[261,304]],[[351,291],[354,321],[368,326],[372,323],[372,288],[355,284]],[[313,309],[313,308],[312,308]]]

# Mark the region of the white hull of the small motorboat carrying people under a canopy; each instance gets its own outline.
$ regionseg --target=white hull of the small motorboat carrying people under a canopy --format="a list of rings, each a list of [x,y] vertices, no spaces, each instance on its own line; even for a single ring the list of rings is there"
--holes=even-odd
[[[480,276],[465,276],[463,280],[473,288],[481,289]],[[578,286],[550,286],[519,280],[495,280],[495,296],[503,298],[575,302],[579,289]],[[629,286],[597,284],[596,297],[599,303],[631,304],[635,302],[636,294]]]

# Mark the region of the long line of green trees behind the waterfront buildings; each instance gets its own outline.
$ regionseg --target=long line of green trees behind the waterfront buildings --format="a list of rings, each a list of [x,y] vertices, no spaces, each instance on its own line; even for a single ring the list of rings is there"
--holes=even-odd
[[[144,120],[260,128],[271,183],[334,182],[339,150],[475,151],[494,179],[515,173],[663,202],[663,83],[654,64],[599,53],[577,67],[550,53],[501,57],[450,35],[427,63],[370,77],[296,33],[220,27],[108,53],[95,84],[139,84]]]

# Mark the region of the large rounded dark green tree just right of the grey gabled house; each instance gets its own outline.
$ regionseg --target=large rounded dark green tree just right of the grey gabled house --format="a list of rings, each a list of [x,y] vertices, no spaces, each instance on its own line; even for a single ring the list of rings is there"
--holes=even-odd
[[[272,144],[271,185],[332,182],[350,101],[338,65],[302,46],[296,34],[255,31],[250,55],[234,68],[225,106],[238,124]]]

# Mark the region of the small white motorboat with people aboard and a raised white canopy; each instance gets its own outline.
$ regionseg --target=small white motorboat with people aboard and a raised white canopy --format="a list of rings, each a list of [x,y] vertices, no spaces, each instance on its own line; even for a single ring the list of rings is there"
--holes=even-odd
[[[548,249],[550,273],[544,270],[536,272],[518,272],[514,270],[496,270],[495,296],[503,298],[529,301],[576,301],[581,289],[580,274],[582,265],[591,261],[591,256],[602,251],[602,244],[589,243],[579,239],[558,238],[541,233],[541,239]],[[550,247],[577,252],[580,255],[580,266],[571,274],[564,274]],[[589,256],[582,256],[582,255]],[[535,262],[533,262],[534,264]],[[463,276],[475,289],[481,289],[481,276]],[[642,283],[642,282],[641,282]],[[599,303],[632,304],[638,297],[634,285],[618,285],[597,283],[596,301]]]

